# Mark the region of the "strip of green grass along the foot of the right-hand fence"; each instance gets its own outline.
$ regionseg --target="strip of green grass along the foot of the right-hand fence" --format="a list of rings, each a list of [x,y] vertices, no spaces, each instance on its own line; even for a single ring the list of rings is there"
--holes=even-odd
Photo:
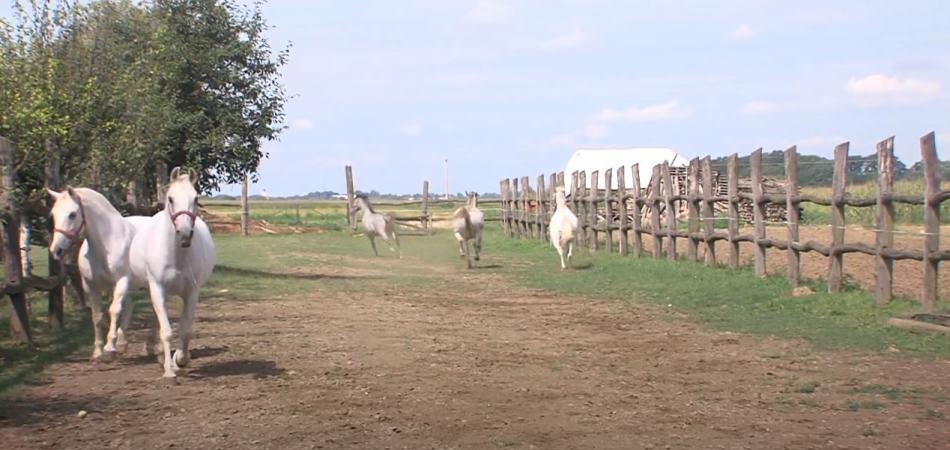
[[[896,299],[876,307],[867,291],[846,287],[826,293],[819,282],[807,282],[813,295],[792,297],[785,279],[764,279],[749,270],[706,267],[686,261],[654,261],[579,250],[578,269],[561,272],[548,245],[504,238],[490,232],[487,254],[509,261],[507,273],[528,287],[567,294],[646,302],[691,313],[715,330],[780,338],[804,338],[821,348],[885,351],[950,357],[950,339],[916,335],[888,326],[888,318],[917,310],[917,304]],[[944,305],[940,305],[944,306]]]

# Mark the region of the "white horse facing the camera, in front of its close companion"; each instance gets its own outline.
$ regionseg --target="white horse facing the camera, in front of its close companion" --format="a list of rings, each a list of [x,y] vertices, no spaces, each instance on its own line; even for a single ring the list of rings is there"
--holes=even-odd
[[[165,193],[165,210],[148,219],[135,235],[129,253],[136,282],[147,283],[152,308],[158,321],[162,344],[163,377],[175,379],[179,367],[191,360],[188,344],[192,338],[198,292],[214,270],[215,250],[211,231],[198,217],[198,191],[194,173],[182,174],[176,167]],[[171,323],[166,299],[181,297],[184,309],[178,327],[178,349],[171,355]]]

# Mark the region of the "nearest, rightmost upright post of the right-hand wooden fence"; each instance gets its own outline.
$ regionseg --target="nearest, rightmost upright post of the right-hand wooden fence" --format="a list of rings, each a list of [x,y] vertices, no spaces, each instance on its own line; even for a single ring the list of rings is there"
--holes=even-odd
[[[924,280],[920,302],[932,311],[938,297],[940,268],[940,161],[934,133],[920,138],[920,160],[924,163]]]

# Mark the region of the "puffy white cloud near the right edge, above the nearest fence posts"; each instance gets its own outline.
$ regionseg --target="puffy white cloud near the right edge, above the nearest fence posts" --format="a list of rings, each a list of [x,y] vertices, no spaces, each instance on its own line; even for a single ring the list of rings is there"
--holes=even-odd
[[[846,90],[863,106],[906,105],[933,99],[940,93],[940,83],[874,74],[851,78]]]

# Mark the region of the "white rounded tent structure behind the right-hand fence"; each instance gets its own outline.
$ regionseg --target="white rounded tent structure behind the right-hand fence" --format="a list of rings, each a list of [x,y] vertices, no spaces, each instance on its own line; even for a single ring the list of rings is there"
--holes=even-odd
[[[571,159],[567,160],[567,167],[564,168],[565,188],[567,192],[573,191],[571,174],[582,170],[587,172],[587,187],[591,186],[591,173],[596,170],[599,172],[597,185],[605,188],[604,172],[607,169],[616,171],[620,166],[624,167],[624,178],[627,188],[630,188],[633,186],[630,167],[634,164],[640,165],[640,187],[645,188],[650,183],[650,177],[653,176],[653,166],[663,164],[664,161],[669,161],[671,167],[686,167],[689,164],[685,156],[665,147],[578,150],[571,155]],[[616,173],[610,184],[612,188],[617,188]]]

